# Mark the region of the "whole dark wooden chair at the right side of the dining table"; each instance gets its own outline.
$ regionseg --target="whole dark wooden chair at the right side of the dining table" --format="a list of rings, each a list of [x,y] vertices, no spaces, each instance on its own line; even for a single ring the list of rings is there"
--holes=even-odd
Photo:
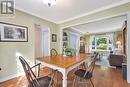
[[[75,87],[78,79],[80,79],[80,81],[90,81],[92,87],[94,87],[94,84],[93,84],[91,78],[93,77],[93,70],[94,70],[94,67],[95,67],[95,62],[96,62],[97,56],[98,56],[98,53],[96,53],[96,55],[94,56],[91,64],[89,65],[89,67],[87,67],[86,69],[78,69],[74,72],[75,77],[74,77],[72,87]]]

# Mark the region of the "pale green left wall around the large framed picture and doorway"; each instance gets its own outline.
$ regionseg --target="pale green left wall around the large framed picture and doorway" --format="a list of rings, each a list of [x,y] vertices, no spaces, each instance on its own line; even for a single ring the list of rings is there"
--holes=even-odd
[[[35,56],[42,56],[40,50],[37,52],[39,54],[35,54],[35,46],[39,48],[39,46],[35,45],[35,24],[41,25],[42,28],[49,27],[51,34],[57,34],[57,37],[60,35],[57,24],[18,10],[16,10],[13,18],[0,17],[0,22],[28,27],[28,42],[0,42],[0,67],[2,68],[2,71],[0,71],[0,82],[21,74],[22,67],[18,54],[26,57],[31,64],[35,63]],[[51,48],[54,47],[59,52],[59,38],[57,42],[51,42],[50,44]]]

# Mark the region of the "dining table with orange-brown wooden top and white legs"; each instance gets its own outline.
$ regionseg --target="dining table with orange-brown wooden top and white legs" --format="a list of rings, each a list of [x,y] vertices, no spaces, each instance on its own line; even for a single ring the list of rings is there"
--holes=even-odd
[[[78,56],[46,56],[36,58],[37,63],[41,63],[45,67],[58,70],[62,73],[62,87],[67,87],[67,74],[72,69],[78,67],[84,62],[87,62],[90,54],[79,54]]]

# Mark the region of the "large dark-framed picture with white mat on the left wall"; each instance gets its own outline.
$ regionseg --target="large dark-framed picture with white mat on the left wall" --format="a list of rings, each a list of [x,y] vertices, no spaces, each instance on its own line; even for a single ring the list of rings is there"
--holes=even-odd
[[[28,27],[0,22],[1,42],[27,42]]]

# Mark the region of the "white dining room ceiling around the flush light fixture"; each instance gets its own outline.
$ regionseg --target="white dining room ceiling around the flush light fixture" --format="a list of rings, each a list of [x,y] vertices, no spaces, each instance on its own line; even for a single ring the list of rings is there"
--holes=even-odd
[[[127,3],[128,0],[56,0],[48,7],[43,0],[15,0],[15,7],[54,23],[63,23],[84,15]]]

